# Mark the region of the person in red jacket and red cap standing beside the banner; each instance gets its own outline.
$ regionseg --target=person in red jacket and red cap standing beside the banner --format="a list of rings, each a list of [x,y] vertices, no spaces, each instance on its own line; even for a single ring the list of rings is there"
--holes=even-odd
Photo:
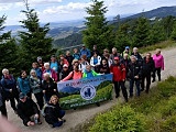
[[[123,64],[120,64],[119,57],[114,57],[114,63],[111,65],[110,72],[113,74],[116,98],[119,97],[120,88],[121,88],[123,97],[124,97],[125,101],[128,101],[128,92],[127,92],[127,88],[124,86],[125,67]]]

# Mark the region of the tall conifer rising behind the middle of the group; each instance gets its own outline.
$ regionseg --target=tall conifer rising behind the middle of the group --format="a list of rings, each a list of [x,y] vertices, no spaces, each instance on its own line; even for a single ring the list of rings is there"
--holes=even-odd
[[[86,18],[87,29],[82,31],[82,42],[92,48],[92,45],[97,45],[98,50],[106,47],[111,48],[114,46],[114,33],[113,28],[108,25],[108,21],[105,16],[107,13],[107,7],[103,6],[103,1],[92,0],[92,4],[86,8],[86,12],[89,16]]]

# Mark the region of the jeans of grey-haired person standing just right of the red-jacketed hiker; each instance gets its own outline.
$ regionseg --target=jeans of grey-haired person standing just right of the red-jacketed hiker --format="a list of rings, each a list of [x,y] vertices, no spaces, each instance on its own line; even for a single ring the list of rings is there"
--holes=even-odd
[[[133,97],[133,86],[135,82],[135,87],[136,87],[136,95],[140,96],[140,79],[131,79],[130,80],[130,97]]]

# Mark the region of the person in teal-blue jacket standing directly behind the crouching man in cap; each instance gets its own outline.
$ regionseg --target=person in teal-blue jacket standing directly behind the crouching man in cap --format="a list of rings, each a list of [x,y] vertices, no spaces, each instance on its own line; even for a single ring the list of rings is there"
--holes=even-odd
[[[30,78],[26,76],[25,70],[21,70],[21,75],[18,77],[18,85],[20,91],[31,98]]]

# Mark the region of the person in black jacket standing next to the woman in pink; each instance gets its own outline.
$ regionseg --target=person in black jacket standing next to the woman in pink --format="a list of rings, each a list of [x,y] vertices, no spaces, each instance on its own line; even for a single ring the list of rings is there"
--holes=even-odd
[[[154,65],[154,61],[151,57],[151,53],[147,53],[146,56],[143,58],[142,62],[142,81],[141,81],[141,91],[144,90],[144,82],[146,79],[146,90],[145,92],[148,94],[150,90],[150,86],[151,86],[151,75],[154,74],[155,70],[155,65]]]

